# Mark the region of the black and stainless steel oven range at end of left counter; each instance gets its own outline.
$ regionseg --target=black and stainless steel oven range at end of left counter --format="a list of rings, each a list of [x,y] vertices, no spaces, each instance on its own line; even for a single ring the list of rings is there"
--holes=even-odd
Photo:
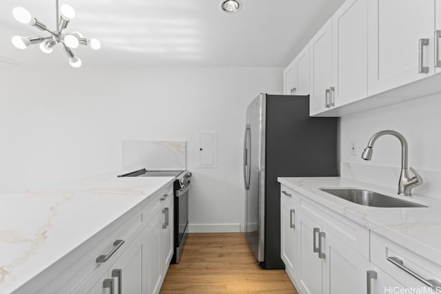
[[[174,176],[174,255],[172,263],[179,263],[188,232],[188,189],[192,173],[189,171],[150,171],[139,169],[119,177]]]

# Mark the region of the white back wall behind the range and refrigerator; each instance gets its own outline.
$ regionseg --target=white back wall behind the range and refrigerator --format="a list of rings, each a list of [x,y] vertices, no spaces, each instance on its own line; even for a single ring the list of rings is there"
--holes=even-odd
[[[39,189],[121,166],[121,140],[186,140],[194,231],[243,225],[245,108],[280,94],[281,68],[0,65],[0,193]],[[196,133],[218,132],[218,168],[196,169]],[[227,226],[213,227],[213,224]]]

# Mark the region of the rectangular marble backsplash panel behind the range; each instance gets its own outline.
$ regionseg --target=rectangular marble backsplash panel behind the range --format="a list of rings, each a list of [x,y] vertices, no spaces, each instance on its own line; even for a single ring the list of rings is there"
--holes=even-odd
[[[185,141],[124,140],[121,168],[124,170],[183,170],[186,167]]]

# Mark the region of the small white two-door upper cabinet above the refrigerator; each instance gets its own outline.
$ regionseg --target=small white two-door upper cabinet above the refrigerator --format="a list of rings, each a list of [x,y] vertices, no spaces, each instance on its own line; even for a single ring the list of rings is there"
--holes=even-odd
[[[286,95],[309,94],[309,46],[306,45],[283,72],[283,93]]]

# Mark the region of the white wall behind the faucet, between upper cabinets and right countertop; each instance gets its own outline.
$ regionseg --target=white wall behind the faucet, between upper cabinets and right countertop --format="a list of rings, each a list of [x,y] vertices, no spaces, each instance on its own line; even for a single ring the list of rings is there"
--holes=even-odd
[[[340,120],[342,176],[397,188],[401,167],[399,141],[393,136],[379,138],[371,161],[360,157],[369,138],[383,129],[393,129],[407,138],[409,166],[419,171],[424,184],[414,193],[441,198],[441,94],[373,109]],[[350,155],[351,142],[357,155]]]

